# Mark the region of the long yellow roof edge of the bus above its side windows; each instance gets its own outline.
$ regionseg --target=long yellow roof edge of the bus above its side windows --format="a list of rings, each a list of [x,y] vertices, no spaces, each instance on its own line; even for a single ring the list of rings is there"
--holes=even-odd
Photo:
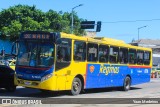
[[[140,46],[133,46],[131,44],[127,44],[122,40],[116,40],[112,38],[106,38],[106,37],[87,37],[87,36],[76,36],[74,34],[66,34],[61,33],[62,38],[70,38],[74,40],[81,40],[86,42],[93,42],[93,43],[100,43],[100,44],[107,44],[112,46],[119,46],[119,47],[125,47],[125,48],[133,48],[137,50],[144,50],[144,51],[152,51],[151,48],[145,48]]]

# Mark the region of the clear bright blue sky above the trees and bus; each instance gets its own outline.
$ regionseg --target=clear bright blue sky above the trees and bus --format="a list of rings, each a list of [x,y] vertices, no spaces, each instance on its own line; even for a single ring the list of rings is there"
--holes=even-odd
[[[88,21],[102,21],[98,37],[130,43],[138,39],[138,28],[146,26],[139,29],[140,39],[160,39],[160,0],[1,0],[0,11],[18,4],[35,5],[44,12],[71,12],[73,7],[83,4],[74,11]]]

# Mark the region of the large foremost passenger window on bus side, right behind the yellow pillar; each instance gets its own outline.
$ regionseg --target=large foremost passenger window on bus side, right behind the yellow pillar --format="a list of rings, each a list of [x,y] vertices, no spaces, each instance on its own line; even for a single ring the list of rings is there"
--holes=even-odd
[[[74,60],[85,61],[86,60],[86,43],[81,41],[74,42]]]

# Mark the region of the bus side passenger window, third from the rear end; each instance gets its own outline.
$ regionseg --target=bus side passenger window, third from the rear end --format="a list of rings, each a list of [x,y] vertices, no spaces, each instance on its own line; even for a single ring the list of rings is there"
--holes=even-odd
[[[129,64],[136,64],[136,50],[129,49],[128,60]]]

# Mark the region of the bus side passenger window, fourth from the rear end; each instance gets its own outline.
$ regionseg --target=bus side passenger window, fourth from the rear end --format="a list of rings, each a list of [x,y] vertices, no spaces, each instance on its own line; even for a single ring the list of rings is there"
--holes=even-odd
[[[128,63],[128,49],[127,48],[120,48],[119,52],[119,62],[121,64]]]

